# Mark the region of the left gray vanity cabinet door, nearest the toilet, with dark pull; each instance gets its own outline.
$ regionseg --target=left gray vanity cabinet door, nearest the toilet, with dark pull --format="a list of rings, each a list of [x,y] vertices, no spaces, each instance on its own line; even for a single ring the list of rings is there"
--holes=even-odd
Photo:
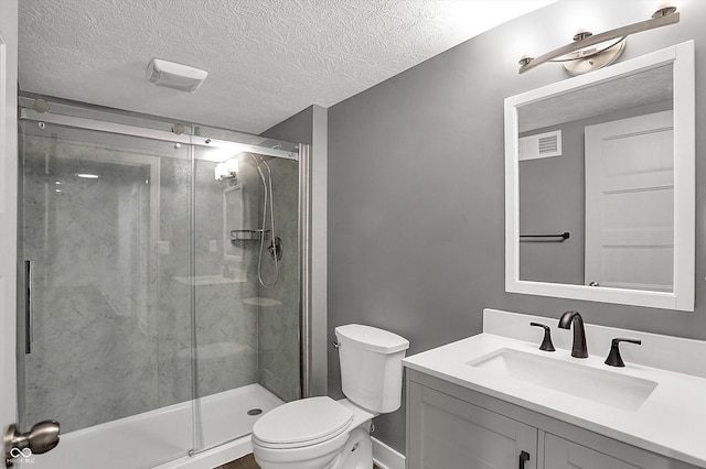
[[[409,384],[407,469],[536,469],[536,428]]]

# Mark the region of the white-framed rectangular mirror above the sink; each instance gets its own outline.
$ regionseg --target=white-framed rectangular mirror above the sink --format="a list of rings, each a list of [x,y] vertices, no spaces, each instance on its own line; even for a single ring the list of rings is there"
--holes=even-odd
[[[505,291],[694,310],[692,41],[505,99]]]

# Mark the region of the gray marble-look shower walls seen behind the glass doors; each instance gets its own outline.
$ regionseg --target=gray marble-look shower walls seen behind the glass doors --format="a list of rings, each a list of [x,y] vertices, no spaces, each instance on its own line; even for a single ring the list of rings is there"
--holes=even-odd
[[[24,258],[34,263],[24,422],[55,418],[64,433],[192,399],[189,149],[84,140],[24,135],[22,148]],[[225,185],[215,163],[196,160],[200,396],[256,382],[299,396],[298,165],[268,163],[285,246],[271,290],[257,282],[259,242],[245,242],[240,260],[224,257],[224,232],[242,227],[224,226]],[[261,183],[253,167],[240,175],[243,222],[255,228]],[[267,251],[263,263],[270,280]],[[259,306],[263,297],[275,305]]]

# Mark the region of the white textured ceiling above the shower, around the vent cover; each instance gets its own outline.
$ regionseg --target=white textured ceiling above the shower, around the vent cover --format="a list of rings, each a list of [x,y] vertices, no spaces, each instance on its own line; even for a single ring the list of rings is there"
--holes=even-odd
[[[22,90],[259,133],[550,0],[22,0]],[[158,57],[208,72],[146,80]]]

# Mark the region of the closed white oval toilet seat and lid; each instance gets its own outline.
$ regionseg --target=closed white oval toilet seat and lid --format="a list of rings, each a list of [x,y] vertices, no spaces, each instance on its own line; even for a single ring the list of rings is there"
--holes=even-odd
[[[309,397],[280,405],[253,426],[253,443],[265,448],[301,448],[330,440],[346,432],[353,412],[329,396]]]

